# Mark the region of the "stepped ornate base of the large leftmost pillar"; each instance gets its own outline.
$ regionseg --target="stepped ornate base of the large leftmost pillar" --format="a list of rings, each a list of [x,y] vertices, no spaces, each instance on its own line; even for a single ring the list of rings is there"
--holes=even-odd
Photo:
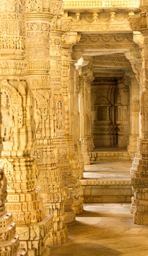
[[[34,159],[19,157],[18,161],[18,157],[1,158],[0,164],[7,174],[7,210],[13,213],[20,248],[26,250],[27,256],[44,255],[53,221],[52,216],[46,214],[40,191],[34,189],[32,177],[35,173],[38,175]],[[27,179],[28,176],[30,179]]]

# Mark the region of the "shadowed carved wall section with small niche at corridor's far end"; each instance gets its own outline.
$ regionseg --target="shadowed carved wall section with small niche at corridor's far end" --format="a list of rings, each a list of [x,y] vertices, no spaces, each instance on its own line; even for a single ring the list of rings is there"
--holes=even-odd
[[[96,147],[114,145],[114,83],[96,79],[91,85],[92,133]]]

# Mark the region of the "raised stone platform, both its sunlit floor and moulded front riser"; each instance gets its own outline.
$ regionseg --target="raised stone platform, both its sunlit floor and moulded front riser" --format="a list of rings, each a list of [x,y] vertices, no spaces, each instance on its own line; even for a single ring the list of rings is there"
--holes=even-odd
[[[81,184],[83,202],[131,202],[131,161],[94,161],[85,166]]]

